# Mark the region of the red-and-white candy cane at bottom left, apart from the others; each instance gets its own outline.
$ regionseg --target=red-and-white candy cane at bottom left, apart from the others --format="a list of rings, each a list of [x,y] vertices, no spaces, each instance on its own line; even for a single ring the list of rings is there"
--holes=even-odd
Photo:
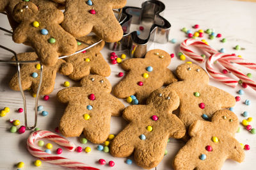
[[[68,151],[74,151],[76,149],[76,145],[74,143],[70,143],[67,139],[61,137],[60,135],[54,134],[47,130],[38,130],[33,132],[28,137],[27,148],[29,153],[36,158],[40,158],[45,162],[49,162],[51,164],[55,164],[58,166],[68,167],[71,169],[88,169],[88,170],[96,170],[95,167],[90,167],[84,163],[76,162],[74,160],[70,160],[68,158],[58,157],[56,155],[51,155],[46,153],[45,151],[38,150],[35,146],[35,141],[37,139],[48,139],[50,141],[54,141],[55,143],[67,148]]]

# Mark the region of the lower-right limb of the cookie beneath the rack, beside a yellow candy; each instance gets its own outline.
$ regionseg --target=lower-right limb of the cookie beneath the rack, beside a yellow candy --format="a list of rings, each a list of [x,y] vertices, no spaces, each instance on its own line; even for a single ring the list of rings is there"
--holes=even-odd
[[[95,55],[95,61],[92,61],[92,67],[91,67],[91,72],[93,74],[98,74],[98,75],[102,75],[104,77],[108,77],[111,73],[111,68],[108,65],[108,63],[104,60],[102,54],[96,53]]]

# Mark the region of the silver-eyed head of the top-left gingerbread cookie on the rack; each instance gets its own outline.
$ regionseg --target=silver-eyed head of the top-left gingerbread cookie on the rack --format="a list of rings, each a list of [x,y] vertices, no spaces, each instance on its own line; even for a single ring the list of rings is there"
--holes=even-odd
[[[15,6],[12,15],[13,19],[15,19],[17,22],[22,22],[22,20],[27,20],[31,17],[35,17],[37,12],[38,8],[34,3],[21,2]]]

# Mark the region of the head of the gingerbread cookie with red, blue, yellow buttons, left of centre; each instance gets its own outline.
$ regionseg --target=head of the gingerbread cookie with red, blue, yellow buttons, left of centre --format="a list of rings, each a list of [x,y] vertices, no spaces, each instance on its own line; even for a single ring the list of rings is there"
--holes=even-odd
[[[111,92],[110,82],[100,75],[88,75],[81,80],[80,84],[81,86],[88,86],[88,88],[97,89],[106,93]]]

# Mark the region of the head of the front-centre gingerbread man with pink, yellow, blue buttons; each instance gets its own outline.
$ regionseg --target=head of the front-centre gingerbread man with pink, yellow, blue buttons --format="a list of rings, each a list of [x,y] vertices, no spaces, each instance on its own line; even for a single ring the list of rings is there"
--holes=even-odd
[[[150,97],[147,98],[147,104],[152,104],[154,107],[172,113],[173,110],[179,107],[180,100],[175,91],[160,88],[150,94]]]

